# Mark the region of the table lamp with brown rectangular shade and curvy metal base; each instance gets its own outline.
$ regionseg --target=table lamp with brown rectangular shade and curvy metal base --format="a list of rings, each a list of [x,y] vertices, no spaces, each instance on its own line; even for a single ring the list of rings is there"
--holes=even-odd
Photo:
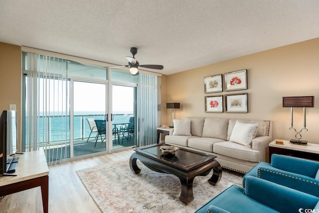
[[[294,97],[283,97],[283,107],[291,108],[291,127],[290,130],[295,130],[296,139],[290,140],[290,143],[293,144],[301,144],[307,145],[307,141],[302,141],[301,132],[308,129],[306,128],[306,107],[314,107],[315,106],[315,96],[294,96]],[[302,128],[299,132],[294,128],[294,120],[293,120],[293,108],[294,107],[304,107],[304,128]]]

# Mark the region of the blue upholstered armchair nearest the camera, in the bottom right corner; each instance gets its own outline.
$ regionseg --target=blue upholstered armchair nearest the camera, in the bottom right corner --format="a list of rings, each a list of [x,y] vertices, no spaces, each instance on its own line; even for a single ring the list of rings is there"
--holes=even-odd
[[[319,211],[318,197],[248,176],[245,189],[233,185],[196,213],[298,213],[313,209]]]

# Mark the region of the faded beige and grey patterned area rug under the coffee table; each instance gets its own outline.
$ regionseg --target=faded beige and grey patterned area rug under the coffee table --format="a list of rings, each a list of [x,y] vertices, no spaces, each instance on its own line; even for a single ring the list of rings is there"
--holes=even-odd
[[[210,185],[208,176],[193,181],[194,200],[179,200],[180,181],[174,175],[150,170],[137,161],[139,174],[130,170],[129,160],[95,166],[77,174],[103,213],[193,213],[231,185],[242,186],[242,175],[222,173],[221,181]]]

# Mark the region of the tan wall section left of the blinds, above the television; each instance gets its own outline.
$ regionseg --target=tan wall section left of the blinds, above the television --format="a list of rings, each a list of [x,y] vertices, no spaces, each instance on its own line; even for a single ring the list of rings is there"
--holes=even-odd
[[[15,104],[18,151],[21,147],[21,47],[0,42],[0,113]]]

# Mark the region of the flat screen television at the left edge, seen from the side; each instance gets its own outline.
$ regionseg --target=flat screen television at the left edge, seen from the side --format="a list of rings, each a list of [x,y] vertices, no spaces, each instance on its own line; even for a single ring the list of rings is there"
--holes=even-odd
[[[0,176],[15,172],[18,158],[14,158],[17,146],[17,119],[15,110],[4,110],[0,116]]]

